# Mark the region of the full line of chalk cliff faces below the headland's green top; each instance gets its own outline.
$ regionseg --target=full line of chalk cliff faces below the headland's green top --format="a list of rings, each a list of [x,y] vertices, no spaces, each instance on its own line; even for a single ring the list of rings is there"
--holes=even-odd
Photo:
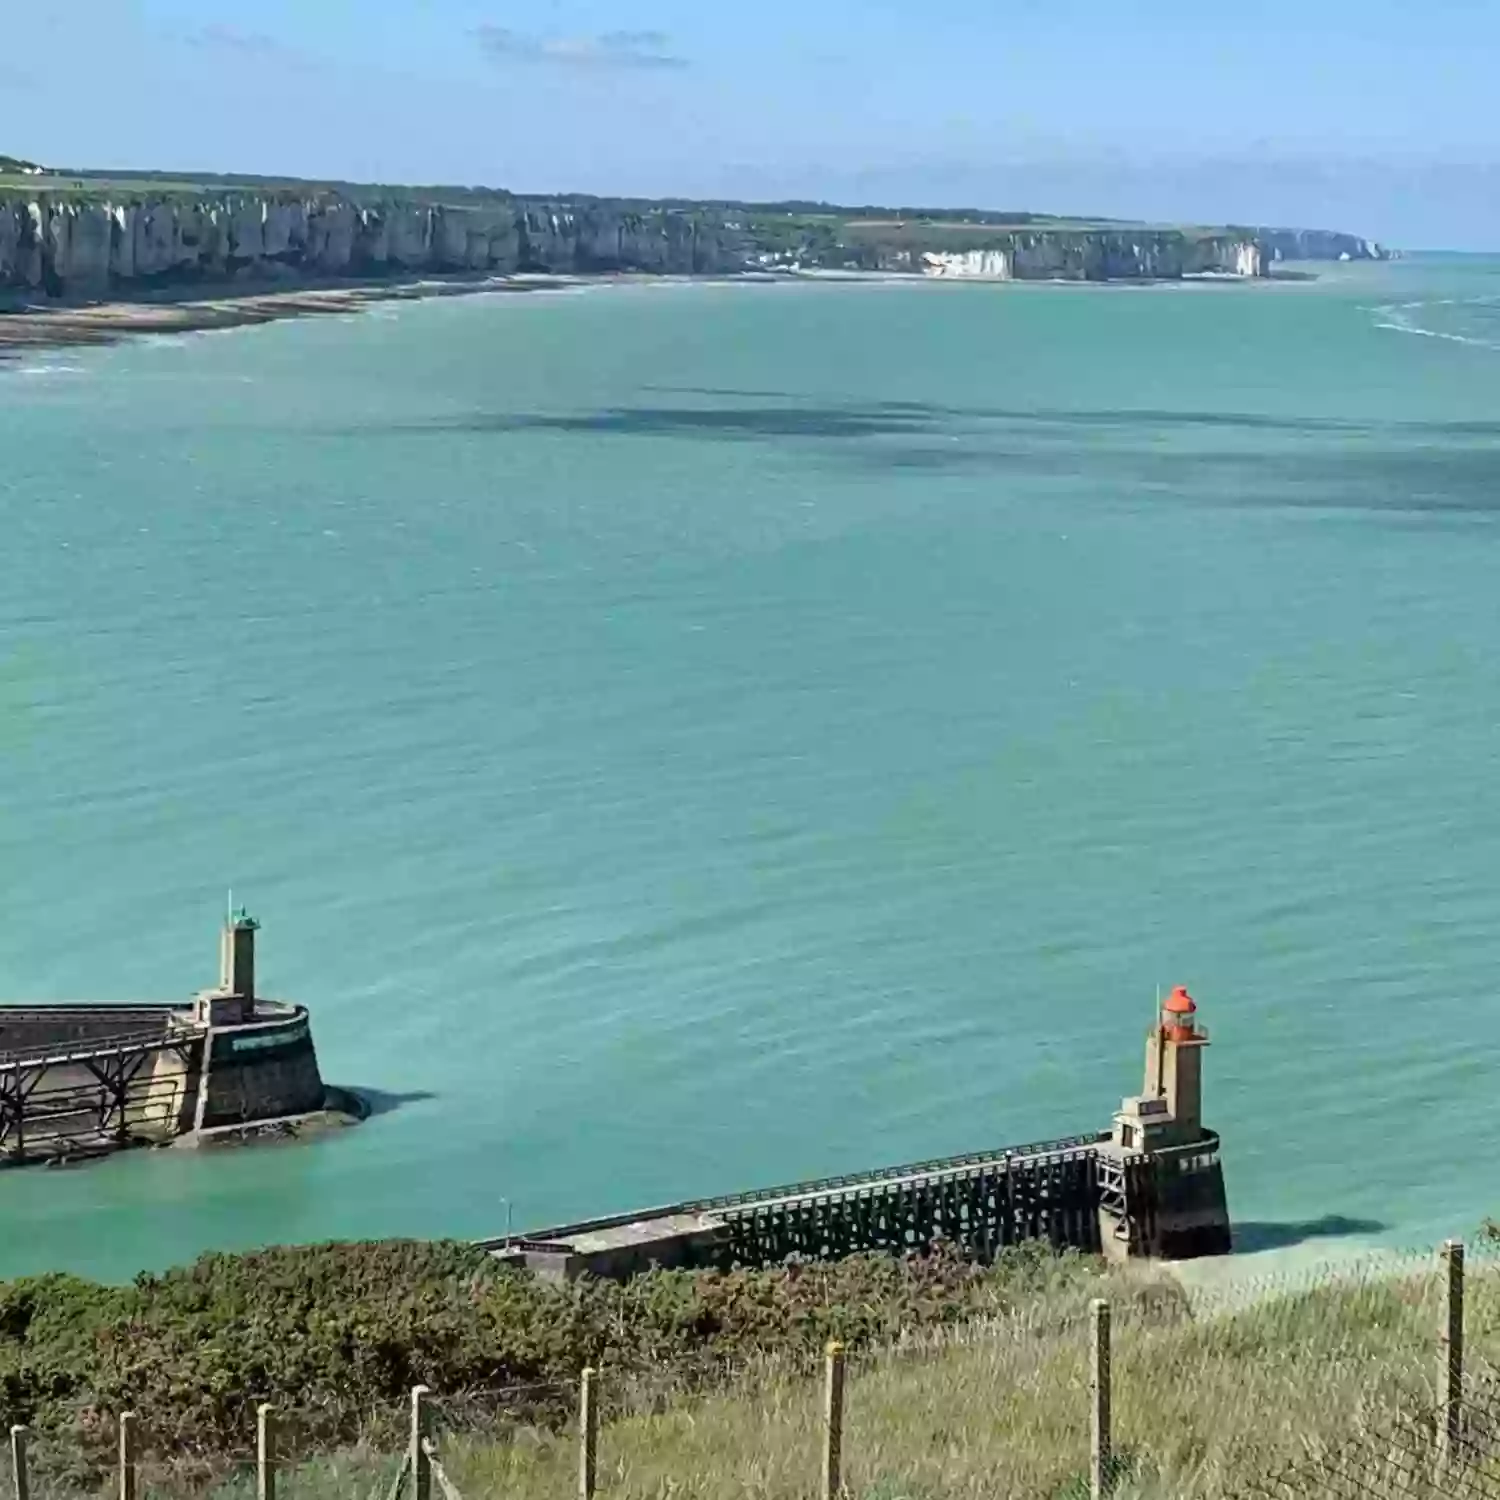
[[[338,192],[212,192],[111,201],[0,194],[0,291],[129,297],[153,285],[426,272],[723,274],[862,267],[988,280],[1263,276],[1278,261],[1378,260],[1368,240],[1316,230],[1198,232],[1131,225],[830,222],[786,237],[790,214],[723,206],[360,202]],[[880,237],[884,236],[884,238]],[[774,246],[774,248],[772,248]]]

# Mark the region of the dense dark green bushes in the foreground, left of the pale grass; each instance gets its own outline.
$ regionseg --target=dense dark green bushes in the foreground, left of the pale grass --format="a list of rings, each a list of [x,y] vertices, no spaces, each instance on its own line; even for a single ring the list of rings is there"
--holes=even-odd
[[[255,1406],[298,1413],[300,1442],[352,1442],[412,1384],[546,1425],[578,1372],[696,1389],[759,1356],[885,1342],[970,1322],[1089,1262],[1014,1251],[981,1268],[939,1252],[764,1272],[656,1272],[556,1284],[466,1245],[386,1240],[206,1256],[128,1287],[72,1276],[0,1286],[0,1426],[102,1464],[134,1410],[159,1449],[243,1449]],[[502,1407],[486,1392],[528,1390]],[[496,1398],[498,1400],[498,1398]]]

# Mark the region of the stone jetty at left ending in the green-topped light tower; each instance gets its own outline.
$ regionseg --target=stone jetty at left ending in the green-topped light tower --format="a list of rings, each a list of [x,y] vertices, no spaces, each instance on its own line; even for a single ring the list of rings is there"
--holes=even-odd
[[[246,912],[219,984],[183,1004],[0,1005],[0,1166],[296,1128],[354,1101],[318,1071],[306,1006],[261,996]]]

